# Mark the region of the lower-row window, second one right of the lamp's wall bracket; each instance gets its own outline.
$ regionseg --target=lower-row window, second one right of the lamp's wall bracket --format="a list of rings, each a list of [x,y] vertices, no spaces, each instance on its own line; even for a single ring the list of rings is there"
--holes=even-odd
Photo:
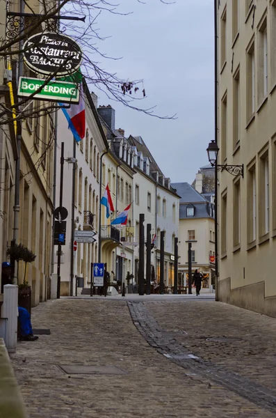
[[[260,236],[269,232],[269,165],[268,151],[260,158],[260,185],[259,185],[259,208],[260,208]]]

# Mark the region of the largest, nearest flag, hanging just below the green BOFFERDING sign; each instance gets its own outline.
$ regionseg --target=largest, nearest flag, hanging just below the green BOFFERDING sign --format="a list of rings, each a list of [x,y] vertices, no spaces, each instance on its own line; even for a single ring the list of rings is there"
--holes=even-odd
[[[60,103],[62,105],[62,103]],[[76,142],[81,141],[86,134],[86,109],[83,98],[83,84],[80,84],[79,104],[71,104],[69,109],[62,107],[70,130]]]

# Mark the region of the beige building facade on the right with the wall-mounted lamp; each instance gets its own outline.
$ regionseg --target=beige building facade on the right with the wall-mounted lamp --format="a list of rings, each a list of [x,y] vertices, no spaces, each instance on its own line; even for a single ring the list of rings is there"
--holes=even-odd
[[[276,316],[276,1],[218,3],[217,298]]]

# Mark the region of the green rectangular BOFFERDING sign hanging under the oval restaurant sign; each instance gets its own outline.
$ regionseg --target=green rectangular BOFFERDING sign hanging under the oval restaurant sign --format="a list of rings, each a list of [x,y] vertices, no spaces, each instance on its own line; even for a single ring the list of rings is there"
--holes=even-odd
[[[32,77],[20,77],[17,94],[19,97],[29,97],[35,91],[38,91],[46,80]],[[79,103],[78,84],[70,82],[59,82],[51,80],[47,82],[39,93],[33,96],[36,100],[49,100],[60,103]]]

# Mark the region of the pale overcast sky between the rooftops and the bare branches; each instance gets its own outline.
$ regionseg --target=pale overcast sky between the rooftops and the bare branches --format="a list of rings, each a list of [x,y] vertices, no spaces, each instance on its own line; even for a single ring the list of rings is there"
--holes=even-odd
[[[119,0],[118,0],[119,2]],[[147,98],[139,104],[156,113],[177,114],[164,121],[111,102],[104,93],[99,104],[116,111],[116,128],[140,135],[159,167],[172,182],[191,183],[208,164],[206,148],[213,139],[213,1],[120,0],[128,16],[103,13],[98,19],[102,52],[122,56],[104,68],[124,78],[144,79]]]

